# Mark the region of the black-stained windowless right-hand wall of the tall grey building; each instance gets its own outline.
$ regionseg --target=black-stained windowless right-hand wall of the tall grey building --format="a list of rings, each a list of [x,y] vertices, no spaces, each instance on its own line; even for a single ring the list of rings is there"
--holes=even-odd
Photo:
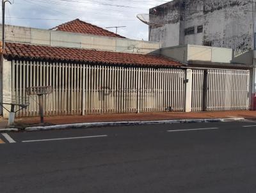
[[[234,5],[206,12],[204,42],[215,47],[253,49],[252,2],[232,1]]]

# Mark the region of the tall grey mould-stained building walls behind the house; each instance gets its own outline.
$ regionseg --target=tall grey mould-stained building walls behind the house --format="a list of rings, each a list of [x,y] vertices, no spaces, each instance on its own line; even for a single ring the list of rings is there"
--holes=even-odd
[[[253,49],[252,6],[252,1],[244,0],[174,0],[157,6],[156,14],[168,17],[172,10],[184,10],[180,12],[180,19],[174,20],[175,24],[166,24],[152,30],[150,40],[161,42],[163,47],[211,43],[213,47],[250,50]],[[168,8],[169,11],[166,10]],[[203,33],[196,32],[200,25],[204,26]],[[173,39],[178,36],[179,26],[178,44]],[[188,27],[195,27],[195,35],[181,34]],[[172,35],[173,38],[170,38]]]

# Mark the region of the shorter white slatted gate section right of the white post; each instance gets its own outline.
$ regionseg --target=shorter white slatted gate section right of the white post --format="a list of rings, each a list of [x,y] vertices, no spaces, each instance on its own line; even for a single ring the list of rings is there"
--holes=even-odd
[[[193,69],[192,77],[192,111],[249,108],[249,70]]]

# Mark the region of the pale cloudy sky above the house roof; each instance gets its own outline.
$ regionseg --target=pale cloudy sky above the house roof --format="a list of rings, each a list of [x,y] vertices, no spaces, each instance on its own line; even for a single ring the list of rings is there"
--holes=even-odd
[[[50,29],[81,19],[106,28],[126,26],[118,34],[148,40],[148,26],[136,18],[140,13],[168,1],[157,0],[10,0],[6,3],[6,24]],[[115,29],[108,29],[115,32]]]

